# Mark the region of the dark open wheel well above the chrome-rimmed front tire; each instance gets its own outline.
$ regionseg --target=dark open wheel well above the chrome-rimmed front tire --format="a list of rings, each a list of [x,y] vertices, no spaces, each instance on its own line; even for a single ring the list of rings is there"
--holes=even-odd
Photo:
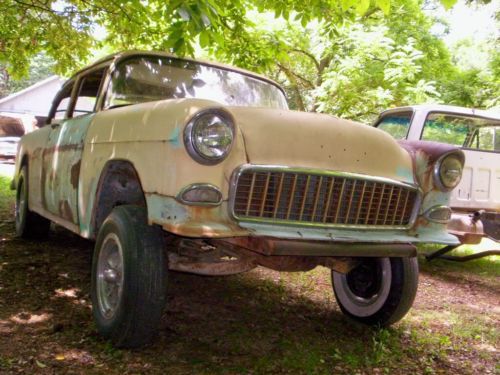
[[[146,198],[139,175],[132,163],[124,160],[113,160],[104,167],[97,186],[92,215],[94,237],[113,208],[123,204],[146,207]]]

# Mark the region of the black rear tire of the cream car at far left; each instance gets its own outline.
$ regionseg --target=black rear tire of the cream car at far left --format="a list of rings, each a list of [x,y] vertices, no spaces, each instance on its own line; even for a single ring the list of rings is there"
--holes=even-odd
[[[16,186],[16,234],[27,239],[46,238],[50,230],[50,220],[30,211],[28,197],[28,167],[24,166],[19,173]]]

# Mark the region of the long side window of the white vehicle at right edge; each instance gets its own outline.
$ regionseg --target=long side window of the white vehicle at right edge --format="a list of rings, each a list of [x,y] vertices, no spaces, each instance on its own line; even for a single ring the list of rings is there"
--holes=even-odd
[[[430,113],[421,139],[481,151],[500,151],[500,120]]]

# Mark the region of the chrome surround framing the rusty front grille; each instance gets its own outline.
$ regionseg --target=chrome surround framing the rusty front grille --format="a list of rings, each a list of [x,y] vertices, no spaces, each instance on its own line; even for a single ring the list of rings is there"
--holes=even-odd
[[[236,199],[236,187],[240,176],[247,170],[255,172],[284,172],[284,173],[297,173],[297,174],[309,174],[316,176],[327,176],[327,177],[341,177],[349,179],[357,179],[363,181],[379,182],[391,186],[399,186],[406,188],[408,190],[415,191],[417,197],[415,199],[415,205],[413,207],[412,214],[408,225],[368,225],[368,224],[325,224],[325,223],[310,223],[297,220],[282,220],[273,218],[241,218],[234,212],[234,202]],[[344,180],[345,181],[345,180]],[[250,223],[265,223],[270,225],[286,225],[294,227],[315,227],[315,228],[345,228],[345,229],[374,229],[374,230],[407,230],[410,229],[415,220],[417,219],[420,205],[422,203],[423,193],[422,190],[416,184],[409,184],[406,182],[401,182],[393,180],[386,177],[375,177],[359,173],[351,172],[339,172],[339,171],[329,171],[323,169],[313,169],[313,168],[301,168],[301,167],[289,167],[282,165],[253,165],[253,164],[243,164],[239,168],[233,171],[229,185],[229,215],[236,221],[250,222]],[[287,216],[288,217],[288,216]]]

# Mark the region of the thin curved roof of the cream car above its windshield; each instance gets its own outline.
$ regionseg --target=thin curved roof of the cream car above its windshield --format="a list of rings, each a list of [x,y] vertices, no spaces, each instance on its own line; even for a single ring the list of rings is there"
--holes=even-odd
[[[218,62],[206,61],[206,60],[202,60],[202,59],[194,59],[194,58],[189,58],[189,57],[179,57],[179,56],[175,56],[175,55],[173,55],[171,53],[162,52],[162,51],[130,50],[130,51],[116,52],[116,53],[113,53],[111,55],[105,56],[105,57],[103,57],[103,58],[95,61],[94,63],[92,63],[91,65],[88,65],[88,66],[84,67],[83,69],[80,69],[79,71],[77,71],[75,74],[73,74],[71,76],[70,80],[74,79],[76,76],[82,74],[83,72],[85,72],[87,70],[90,70],[90,69],[92,69],[92,68],[94,68],[94,67],[96,67],[98,65],[101,65],[101,64],[103,64],[105,62],[109,62],[110,64],[116,64],[119,60],[123,60],[123,59],[129,58],[129,57],[134,57],[134,56],[170,57],[172,59],[178,59],[178,60],[184,60],[184,61],[191,61],[191,62],[203,64],[203,65],[212,66],[212,67],[215,67],[215,68],[221,68],[221,69],[224,69],[224,70],[230,70],[230,71],[241,73],[241,74],[253,77],[253,78],[257,78],[257,79],[262,80],[262,81],[266,81],[266,82],[268,82],[268,83],[270,83],[270,84],[278,87],[283,92],[283,94],[285,94],[284,89],[277,82],[273,81],[272,79],[267,78],[266,76],[260,75],[258,73],[254,73],[254,72],[251,72],[249,70],[237,68],[237,67],[234,67],[234,66],[231,66],[231,65],[226,65],[226,64],[222,64],[222,63],[218,63]]]

